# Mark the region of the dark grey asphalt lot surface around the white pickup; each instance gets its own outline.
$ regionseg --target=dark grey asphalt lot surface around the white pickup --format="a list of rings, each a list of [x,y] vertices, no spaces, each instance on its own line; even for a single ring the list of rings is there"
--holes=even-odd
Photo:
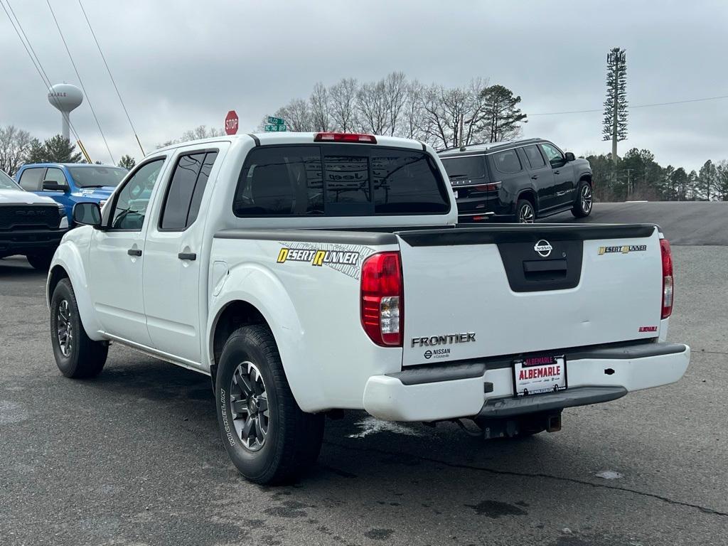
[[[98,379],[63,378],[44,275],[1,260],[0,545],[727,544],[728,203],[597,204],[588,221],[659,223],[673,243],[680,382],[526,440],[347,414],[279,488],[234,470],[205,376],[114,345]]]

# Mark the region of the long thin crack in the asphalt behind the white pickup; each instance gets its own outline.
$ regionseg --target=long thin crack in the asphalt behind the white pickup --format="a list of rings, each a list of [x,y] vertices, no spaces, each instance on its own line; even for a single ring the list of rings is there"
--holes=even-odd
[[[331,442],[328,440],[324,440],[324,443],[328,444],[330,446],[336,446],[336,447],[342,448],[342,449],[349,449],[351,451],[370,451],[371,453],[376,453],[376,454],[380,454],[380,455],[395,455],[394,452],[387,451],[386,449],[360,448],[360,447],[355,447],[355,446],[347,446],[343,443],[336,443],[336,442]],[[397,453],[397,454],[401,455],[401,453]],[[590,487],[594,487],[594,488],[613,489],[615,491],[625,491],[625,493],[631,493],[631,494],[635,494],[635,495],[639,495],[639,496],[646,496],[646,497],[649,497],[652,499],[657,499],[657,500],[667,503],[668,505],[695,508],[705,514],[719,515],[721,517],[728,518],[727,512],[713,510],[713,508],[708,508],[708,507],[704,507],[704,506],[700,506],[700,505],[694,505],[690,502],[678,501],[675,499],[670,499],[670,497],[668,497],[668,496],[662,496],[662,495],[658,495],[658,494],[654,494],[654,493],[646,493],[645,491],[639,491],[638,489],[631,489],[628,487],[611,486],[606,483],[594,483],[594,482],[587,481],[587,480],[579,480],[579,478],[567,478],[565,476],[546,474],[545,472],[515,472],[515,470],[497,470],[495,468],[478,467],[473,464],[448,462],[448,461],[443,461],[442,459],[434,459],[432,457],[425,457],[422,455],[408,454],[408,456],[411,456],[414,459],[419,459],[424,462],[431,462],[431,463],[435,463],[435,464],[444,464],[446,467],[459,468],[462,470],[475,470],[475,471],[479,471],[479,472],[488,472],[488,474],[518,476],[521,478],[545,478],[547,480],[578,483],[579,485],[582,485],[582,486],[590,486]]]

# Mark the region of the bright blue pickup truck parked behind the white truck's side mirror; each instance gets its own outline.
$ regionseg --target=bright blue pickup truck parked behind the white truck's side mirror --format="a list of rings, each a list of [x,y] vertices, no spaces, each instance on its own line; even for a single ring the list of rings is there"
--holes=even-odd
[[[111,165],[30,163],[17,170],[15,180],[25,191],[51,197],[63,205],[70,224],[76,203],[103,206],[127,172]]]

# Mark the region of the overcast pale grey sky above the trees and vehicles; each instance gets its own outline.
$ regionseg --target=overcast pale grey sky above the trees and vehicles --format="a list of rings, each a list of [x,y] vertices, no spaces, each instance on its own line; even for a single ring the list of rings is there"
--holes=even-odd
[[[3,0],[7,5],[8,0]],[[483,76],[521,95],[526,137],[606,153],[599,112],[606,54],[627,50],[632,105],[728,95],[728,1],[82,0],[146,150],[183,130],[240,130],[315,82],[403,71],[423,83]],[[52,82],[78,78],[45,0],[9,0]],[[78,0],[51,0],[116,161],[137,159],[114,88]],[[0,124],[39,138],[60,114],[0,10]],[[88,103],[71,115],[94,160],[109,162]],[[628,140],[662,165],[728,159],[728,99],[630,110]]]

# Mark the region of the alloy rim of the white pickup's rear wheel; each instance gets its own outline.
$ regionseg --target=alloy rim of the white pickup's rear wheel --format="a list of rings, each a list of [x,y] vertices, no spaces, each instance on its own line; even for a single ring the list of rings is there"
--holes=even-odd
[[[266,384],[252,362],[235,368],[230,382],[230,408],[237,438],[250,451],[258,451],[266,442],[270,414]]]

